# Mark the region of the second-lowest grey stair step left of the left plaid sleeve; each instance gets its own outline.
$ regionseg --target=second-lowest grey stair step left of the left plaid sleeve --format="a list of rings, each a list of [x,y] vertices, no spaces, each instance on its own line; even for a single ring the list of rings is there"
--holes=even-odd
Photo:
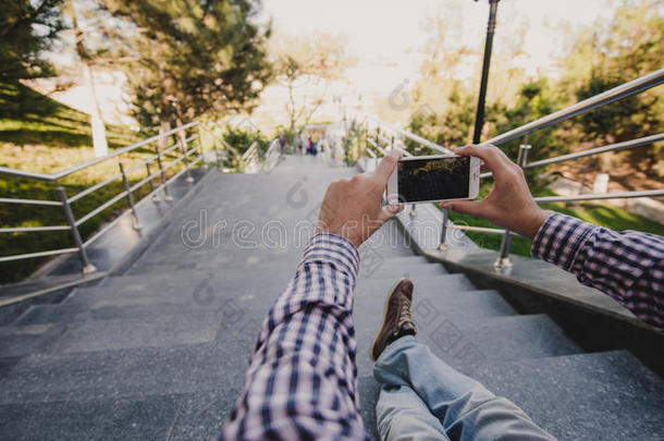
[[[241,384],[255,338],[171,347],[32,354],[19,359],[0,380],[0,405],[139,399]]]

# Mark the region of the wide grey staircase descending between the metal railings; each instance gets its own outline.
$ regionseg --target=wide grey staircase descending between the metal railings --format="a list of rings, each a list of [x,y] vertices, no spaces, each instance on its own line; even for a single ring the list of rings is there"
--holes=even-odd
[[[311,157],[288,157],[270,174],[210,172],[127,273],[0,327],[0,439],[213,437],[324,188],[354,173]],[[664,382],[630,353],[585,353],[548,316],[519,315],[501,293],[415,256],[393,222],[360,255],[357,359],[373,433],[368,346],[386,290],[407,275],[419,339],[556,437],[664,437]]]

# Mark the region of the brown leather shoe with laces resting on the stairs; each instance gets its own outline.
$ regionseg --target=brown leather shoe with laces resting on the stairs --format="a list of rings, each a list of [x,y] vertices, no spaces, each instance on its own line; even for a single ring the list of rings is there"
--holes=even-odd
[[[402,279],[392,286],[385,298],[383,322],[373,335],[369,356],[377,360],[385,346],[404,335],[417,334],[417,328],[410,316],[413,301],[413,281]]]

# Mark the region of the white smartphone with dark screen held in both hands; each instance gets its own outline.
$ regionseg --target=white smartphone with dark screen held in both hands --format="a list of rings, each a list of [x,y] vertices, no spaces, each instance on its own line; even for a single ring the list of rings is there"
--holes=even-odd
[[[475,199],[480,159],[469,156],[411,156],[399,159],[388,181],[388,204]]]

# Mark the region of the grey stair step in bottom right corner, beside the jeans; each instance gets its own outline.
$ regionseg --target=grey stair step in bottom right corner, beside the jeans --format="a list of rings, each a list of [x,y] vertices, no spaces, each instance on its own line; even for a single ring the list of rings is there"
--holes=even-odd
[[[627,351],[487,364],[477,379],[562,440],[664,437],[664,381]]]

